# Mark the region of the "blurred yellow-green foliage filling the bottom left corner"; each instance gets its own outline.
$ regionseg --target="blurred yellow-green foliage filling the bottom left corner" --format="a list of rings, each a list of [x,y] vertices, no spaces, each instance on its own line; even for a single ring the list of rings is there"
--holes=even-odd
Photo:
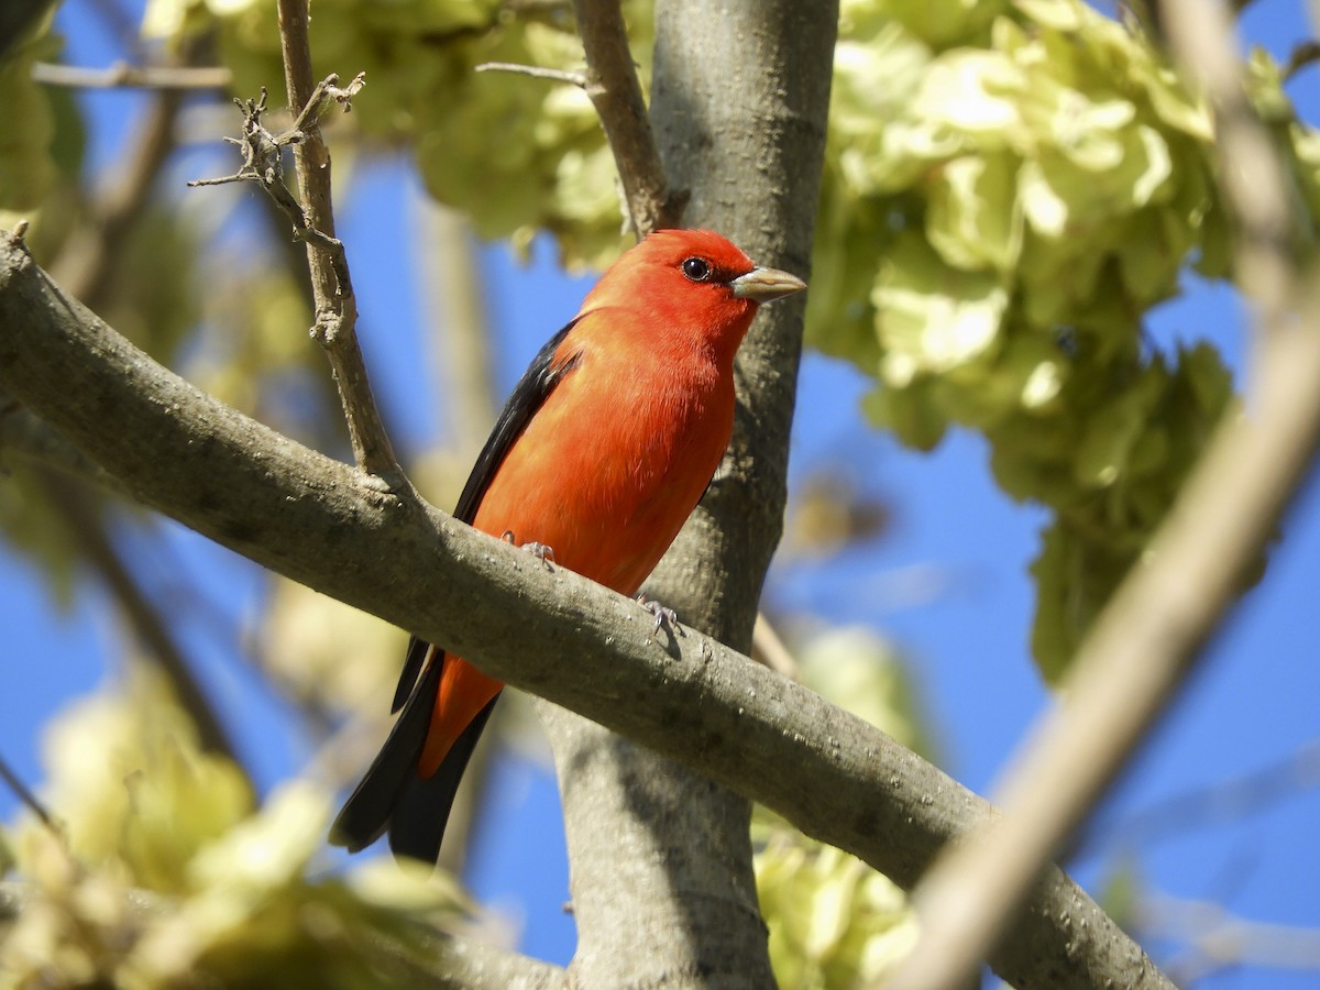
[[[59,830],[0,843],[5,986],[405,986],[466,907],[420,865],[326,874],[333,793],[294,780],[255,807],[144,671],[55,721],[46,763]]]

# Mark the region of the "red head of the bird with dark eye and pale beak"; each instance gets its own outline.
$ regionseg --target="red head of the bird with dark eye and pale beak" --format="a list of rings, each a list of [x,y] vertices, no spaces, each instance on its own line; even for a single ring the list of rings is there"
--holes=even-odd
[[[760,268],[708,230],[661,230],[615,261],[582,305],[634,310],[673,338],[708,342],[730,356],[756,305],[801,292],[797,276]]]

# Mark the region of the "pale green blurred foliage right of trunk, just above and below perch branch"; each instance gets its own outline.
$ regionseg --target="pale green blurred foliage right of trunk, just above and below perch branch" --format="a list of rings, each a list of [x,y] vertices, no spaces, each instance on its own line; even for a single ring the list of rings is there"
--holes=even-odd
[[[797,659],[812,690],[929,754],[912,685],[892,647],[874,631],[813,635]],[[770,957],[784,990],[878,986],[912,949],[916,912],[888,878],[763,808],[752,817],[752,840]]]

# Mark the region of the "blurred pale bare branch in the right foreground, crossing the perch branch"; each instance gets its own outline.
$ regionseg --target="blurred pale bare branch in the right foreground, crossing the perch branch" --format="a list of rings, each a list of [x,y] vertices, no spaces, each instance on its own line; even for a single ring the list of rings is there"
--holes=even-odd
[[[1003,818],[936,865],[913,898],[923,936],[895,990],[956,986],[1016,916],[1040,870],[1104,795],[1196,665],[1320,444],[1320,290],[1290,251],[1283,169],[1242,91],[1218,4],[1163,3],[1176,51],[1217,110],[1238,284],[1257,306],[1250,416],[1230,412],[1140,564],[1097,619],[1064,704],[998,789]]]

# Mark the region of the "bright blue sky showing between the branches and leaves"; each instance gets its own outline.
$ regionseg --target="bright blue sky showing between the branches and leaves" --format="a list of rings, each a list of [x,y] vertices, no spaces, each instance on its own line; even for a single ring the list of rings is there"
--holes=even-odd
[[[70,61],[103,65],[110,57],[88,29],[86,9],[81,0],[69,0],[61,15],[71,41]],[[1303,16],[1302,4],[1259,0],[1246,29],[1283,55],[1308,32]],[[1320,120],[1317,71],[1299,77],[1294,90],[1309,120]],[[135,100],[131,94],[96,94],[88,100],[95,160],[112,154]],[[407,253],[400,246],[422,232],[411,209],[417,195],[407,166],[379,162],[358,174],[341,210],[341,235],[363,312],[363,345],[404,449],[422,446],[434,429],[434,411],[414,401],[429,385],[424,362],[416,360],[425,333],[413,285],[417,272],[400,263]],[[483,265],[499,378],[507,389],[544,338],[577,309],[587,281],[558,273],[544,246],[531,267],[515,263],[500,246],[484,252]],[[1241,371],[1242,306],[1222,286],[1189,282],[1187,288],[1183,298],[1155,314],[1158,346],[1209,338]],[[891,506],[892,524],[882,539],[826,564],[776,566],[767,594],[783,611],[861,623],[891,638],[931,713],[945,768],[985,792],[1047,704],[1027,651],[1032,587],[1026,572],[1044,515],[999,494],[977,437],[953,434],[935,453],[913,454],[863,426],[857,399],[866,387],[850,367],[808,355],[792,483],[797,490],[813,471],[846,469]],[[260,573],[173,524],[166,527],[170,554],[135,558],[144,582],[157,591],[169,589],[177,577],[172,568],[205,576],[209,607],[235,627],[249,622],[260,601]],[[124,545],[132,550],[141,543],[129,533]],[[1265,581],[1246,597],[1101,809],[1098,820],[1109,825],[1073,865],[1078,879],[1094,886],[1115,863],[1129,863],[1151,890],[1320,932],[1315,771],[1309,784],[1299,783],[1279,800],[1229,809],[1228,821],[1184,821],[1139,849],[1126,847],[1122,828],[1144,808],[1284,760],[1320,737],[1317,569],[1320,495],[1312,484],[1284,525]],[[945,578],[936,595],[913,601],[902,594],[908,577],[932,572]],[[0,548],[0,623],[9,642],[0,754],[26,780],[40,781],[41,726],[110,676],[120,652],[119,628],[107,597],[92,582],[81,582],[75,605],[59,611],[40,576],[5,548]],[[185,644],[199,659],[207,684],[226,700],[240,746],[268,787],[296,770],[306,755],[302,742],[280,727],[279,704],[201,624],[185,628]],[[568,876],[553,779],[541,764],[513,758],[500,760],[494,772],[496,787],[474,842],[469,880],[482,899],[520,919],[525,950],[564,962],[572,956],[573,928],[561,911]],[[15,805],[0,791],[0,817],[12,817]],[[1150,948],[1162,961],[1170,958],[1160,956],[1167,946]],[[1317,983],[1320,973],[1254,968],[1199,986],[1291,990]]]

